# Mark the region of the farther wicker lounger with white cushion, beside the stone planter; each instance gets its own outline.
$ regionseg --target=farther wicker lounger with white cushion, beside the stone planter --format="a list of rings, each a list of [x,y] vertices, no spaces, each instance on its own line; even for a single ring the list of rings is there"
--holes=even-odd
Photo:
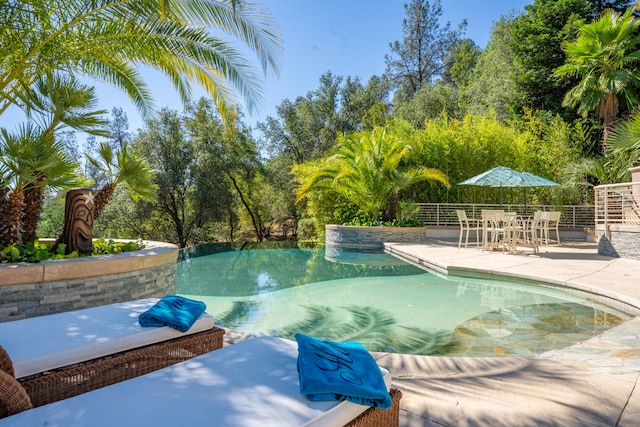
[[[155,371],[219,349],[224,329],[203,314],[186,333],[142,328],[157,299],[0,323],[0,369],[34,407]]]

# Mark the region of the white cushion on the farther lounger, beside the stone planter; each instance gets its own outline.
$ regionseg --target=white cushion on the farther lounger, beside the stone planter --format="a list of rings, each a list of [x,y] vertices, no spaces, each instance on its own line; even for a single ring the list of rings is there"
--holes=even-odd
[[[186,332],[143,328],[140,313],[158,301],[148,298],[0,323],[0,345],[13,361],[16,378],[108,354],[211,329],[204,313]]]

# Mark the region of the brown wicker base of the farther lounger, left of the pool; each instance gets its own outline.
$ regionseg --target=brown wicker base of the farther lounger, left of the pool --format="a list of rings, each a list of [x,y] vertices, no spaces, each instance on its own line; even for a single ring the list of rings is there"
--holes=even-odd
[[[214,326],[208,331],[18,378],[18,382],[33,406],[42,406],[222,348],[224,332]]]

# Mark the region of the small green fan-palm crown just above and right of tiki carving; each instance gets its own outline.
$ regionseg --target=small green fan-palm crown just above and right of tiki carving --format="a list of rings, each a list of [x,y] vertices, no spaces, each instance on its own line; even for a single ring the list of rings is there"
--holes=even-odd
[[[95,194],[93,220],[97,221],[118,185],[123,185],[134,201],[155,200],[154,172],[147,161],[127,145],[115,151],[107,143],[98,146],[98,158],[87,155],[87,160],[97,169],[111,177]]]

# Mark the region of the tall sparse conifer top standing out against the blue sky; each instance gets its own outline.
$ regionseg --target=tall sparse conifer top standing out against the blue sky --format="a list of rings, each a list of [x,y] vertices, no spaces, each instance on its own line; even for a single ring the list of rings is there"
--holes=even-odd
[[[467,22],[452,30],[447,22],[440,25],[440,0],[411,0],[404,5],[402,43],[389,44],[391,54],[385,56],[386,76],[396,89],[395,102],[406,101],[424,85],[431,84],[445,69],[446,58],[463,34]]]

